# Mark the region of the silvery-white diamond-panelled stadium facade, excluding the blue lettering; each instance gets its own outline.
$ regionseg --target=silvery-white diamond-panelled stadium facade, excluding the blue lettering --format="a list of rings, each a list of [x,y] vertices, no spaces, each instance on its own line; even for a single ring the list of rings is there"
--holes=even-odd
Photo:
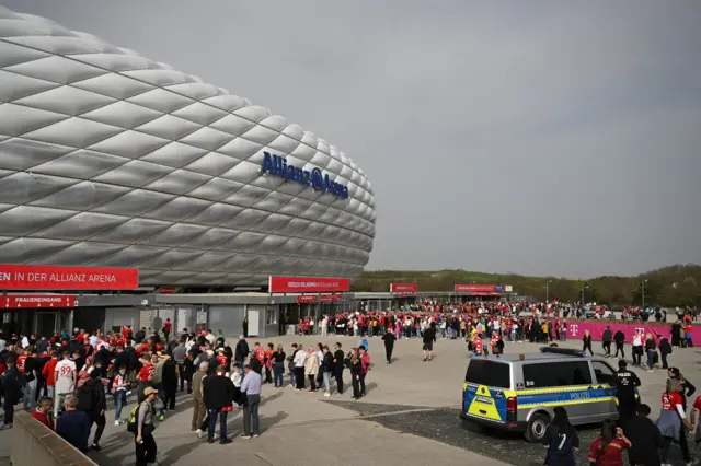
[[[354,278],[368,263],[363,170],[246,98],[4,7],[0,83],[0,264],[216,287]],[[264,152],[329,175],[347,198],[263,173]]]

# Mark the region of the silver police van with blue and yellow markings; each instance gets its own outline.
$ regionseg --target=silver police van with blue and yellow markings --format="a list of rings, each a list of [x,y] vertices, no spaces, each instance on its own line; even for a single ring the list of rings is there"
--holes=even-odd
[[[475,357],[462,385],[461,417],[478,426],[524,432],[540,442],[563,406],[573,426],[618,419],[614,370],[583,351]]]

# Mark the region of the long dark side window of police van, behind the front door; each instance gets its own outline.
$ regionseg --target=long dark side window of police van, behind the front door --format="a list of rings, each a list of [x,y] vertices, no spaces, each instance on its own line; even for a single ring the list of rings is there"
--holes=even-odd
[[[524,364],[524,385],[527,389],[590,384],[591,372],[587,361]]]

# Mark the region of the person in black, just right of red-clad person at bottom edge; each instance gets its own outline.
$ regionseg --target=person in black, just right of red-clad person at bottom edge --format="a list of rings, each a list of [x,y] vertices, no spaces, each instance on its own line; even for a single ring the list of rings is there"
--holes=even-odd
[[[657,424],[650,418],[650,406],[640,405],[637,416],[625,424],[624,432],[632,446],[628,452],[631,466],[660,466],[659,452],[664,440]]]

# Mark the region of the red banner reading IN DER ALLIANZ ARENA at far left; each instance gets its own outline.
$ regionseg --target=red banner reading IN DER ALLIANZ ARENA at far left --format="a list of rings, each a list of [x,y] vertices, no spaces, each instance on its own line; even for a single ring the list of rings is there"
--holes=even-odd
[[[136,290],[138,269],[0,265],[0,290]]]

